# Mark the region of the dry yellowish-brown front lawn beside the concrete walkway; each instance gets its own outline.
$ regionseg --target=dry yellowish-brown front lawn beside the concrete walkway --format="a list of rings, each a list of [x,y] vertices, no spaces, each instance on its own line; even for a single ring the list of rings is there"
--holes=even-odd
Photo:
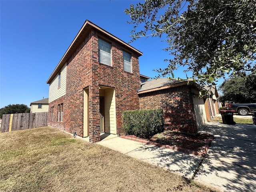
[[[0,178],[4,192],[212,191],[50,127],[0,133]]]

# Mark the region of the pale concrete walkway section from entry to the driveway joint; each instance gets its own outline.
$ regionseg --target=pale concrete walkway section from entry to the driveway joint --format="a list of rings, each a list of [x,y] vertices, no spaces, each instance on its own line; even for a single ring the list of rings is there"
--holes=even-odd
[[[200,156],[143,144],[120,137],[106,138],[98,142],[98,144],[186,176],[187,178],[193,177],[194,171],[202,160]]]

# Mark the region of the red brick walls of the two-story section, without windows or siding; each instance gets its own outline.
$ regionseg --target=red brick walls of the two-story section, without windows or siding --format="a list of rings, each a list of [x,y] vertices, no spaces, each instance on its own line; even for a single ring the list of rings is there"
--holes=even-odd
[[[76,132],[83,137],[84,133],[84,88],[89,89],[89,140],[100,141],[100,104],[99,86],[115,89],[116,127],[118,133],[123,133],[121,112],[139,108],[137,94],[140,88],[140,73],[138,55],[131,50],[132,73],[125,72],[123,67],[122,44],[115,40],[106,39],[112,45],[112,66],[98,62],[98,37],[104,39],[104,34],[92,29],[82,44],[67,61],[66,96],[54,100],[49,108],[54,106],[54,120],[49,125]],[[63,122],[57,120],[58,104],[64,103]],[[49,112],[50,114],[50,112]],[[55,117],[56,116],[56,117]]]

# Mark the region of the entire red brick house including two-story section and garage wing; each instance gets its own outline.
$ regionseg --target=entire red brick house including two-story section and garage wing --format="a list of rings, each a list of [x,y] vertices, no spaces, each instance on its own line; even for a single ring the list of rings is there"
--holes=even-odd
[[[86,20],[47,81],[48,125],[98,142],[101,132],[124,133],[123,111],[163,108],[166,129],[196,133],[205,122],[203,100],[194,104],[200,88],[168,79],[148,81],[140,75],[140,56]]]

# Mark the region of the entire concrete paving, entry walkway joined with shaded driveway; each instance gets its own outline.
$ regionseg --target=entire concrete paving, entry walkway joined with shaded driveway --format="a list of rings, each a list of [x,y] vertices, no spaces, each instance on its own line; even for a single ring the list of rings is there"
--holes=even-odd
[[[205,158],[110,135],[98,144],[224,192],[256,191],[256,126],[210,123]]]

